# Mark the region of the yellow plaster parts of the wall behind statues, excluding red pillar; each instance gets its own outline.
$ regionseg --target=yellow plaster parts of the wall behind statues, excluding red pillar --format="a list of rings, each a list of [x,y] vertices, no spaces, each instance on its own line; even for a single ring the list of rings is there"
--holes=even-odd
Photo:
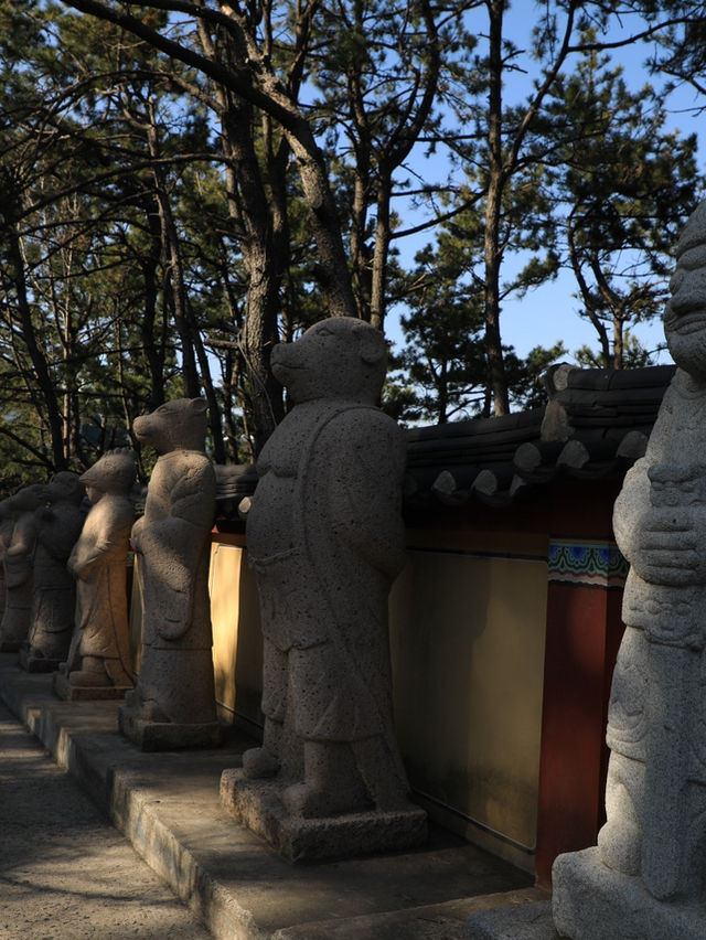
[[[547,548],[537,542],[513,557],[502,546],[491,554],[488,540],[410,546],[391,594],[395,720],[431,816],[533,870]],[[244,536],[214,537],[208,587],[220,718],[258,737],[261,632]],[[139,630],[136,589],[135,653]]]

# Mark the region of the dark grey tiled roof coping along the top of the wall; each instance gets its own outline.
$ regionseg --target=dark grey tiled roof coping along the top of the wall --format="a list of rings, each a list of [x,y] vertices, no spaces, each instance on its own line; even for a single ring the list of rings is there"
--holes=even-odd
[[[674,368],[563,364],[547,373],[543,408],[409,429],[405,504],[504,506],[566,477],[624,474],[644,453]],[[216,480],[218,515],[243,514],[257,483],[254,467],[218,466]]]

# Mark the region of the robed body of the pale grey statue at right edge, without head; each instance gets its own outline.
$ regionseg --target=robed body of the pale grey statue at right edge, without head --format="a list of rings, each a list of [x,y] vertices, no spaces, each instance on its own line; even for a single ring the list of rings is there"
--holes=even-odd
[[[641,875],[657,898],[700,890],[698,859],[706,861],[706,573],[695,551],[688,564],[689,517],[704,512],[706,386],[677,370],[646,453],[616,503],[616,537],[631,569],[608,715],[608,823],[599,835],[606,864]],[[664,532],[681,541],[678,563],[674,548],[651,556],[659,568],[637,562],[645,528],[653,540]]]

